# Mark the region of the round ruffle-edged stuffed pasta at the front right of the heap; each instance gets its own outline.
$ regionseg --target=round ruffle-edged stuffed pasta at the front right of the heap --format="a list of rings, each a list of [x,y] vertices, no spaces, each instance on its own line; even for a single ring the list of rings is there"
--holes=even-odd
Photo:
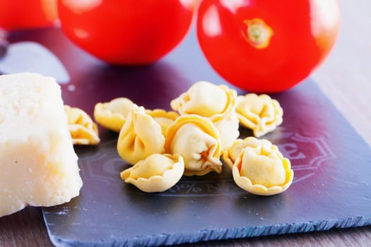
[[[245,147],[232,167],[237,186],[256,195],[275,195],[293,182],[290,160],[283,157],[276,145],[260,140],[261,148]]]

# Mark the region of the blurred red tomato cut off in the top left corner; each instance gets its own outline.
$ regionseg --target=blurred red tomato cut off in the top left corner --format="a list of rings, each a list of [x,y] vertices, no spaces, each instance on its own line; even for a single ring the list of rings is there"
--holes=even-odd
[[[0,28],[45,28],[57,19],[56,0],[0,0]]]

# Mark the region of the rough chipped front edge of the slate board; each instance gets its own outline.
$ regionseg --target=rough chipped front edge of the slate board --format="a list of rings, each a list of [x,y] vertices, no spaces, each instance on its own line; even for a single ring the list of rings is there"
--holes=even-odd
[[[45,215],[43,215],[44,220]],[[182,234],[154,234],[148,236],[135,236],[130,239],[101,239],[100,241],[70,241],[61,239],[47,231],[54,246],[170,246],[181,243],[198,243],[202,241],[216,241],[225,239],[242,239],[254,236],[268,236],[281,234],[296,234],[310,231],[327,231],[350,227],[364,227],[371,225],[371,215],[346,217],[343,219],[321,220],[317,222],[300,222],[290,224],[276,224],[271,226],[239,227],[228,229],[204,229],[201,231],[186,232]]]

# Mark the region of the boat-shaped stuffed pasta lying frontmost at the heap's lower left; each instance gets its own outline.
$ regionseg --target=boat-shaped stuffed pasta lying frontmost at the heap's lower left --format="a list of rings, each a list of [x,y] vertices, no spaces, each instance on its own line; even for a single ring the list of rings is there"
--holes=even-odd
[[[122,171],[121,178],[141,191],[162,192],[171,188],[183,175],[181,155],[153,154]]]

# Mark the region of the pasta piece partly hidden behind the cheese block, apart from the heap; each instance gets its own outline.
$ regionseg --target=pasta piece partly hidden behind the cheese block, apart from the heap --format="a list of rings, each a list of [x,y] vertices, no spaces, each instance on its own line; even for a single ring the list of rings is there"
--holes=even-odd
[[[98,126],[82,109],[64,105],[69,122],[69,133],[75,145],[97,145],[100,143]]]

